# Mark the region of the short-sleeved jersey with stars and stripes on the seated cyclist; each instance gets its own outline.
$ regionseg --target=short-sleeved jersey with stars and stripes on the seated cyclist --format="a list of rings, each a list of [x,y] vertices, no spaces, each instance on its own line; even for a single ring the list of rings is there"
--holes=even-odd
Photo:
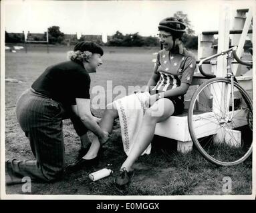
[[[186,49],[183,54],[174,54],[163,49],[157,55],[156,65],[159,80],[152,90],[168,91],[179,87],[181,83],[192,83],[196,60]],[[183,95],[178,98],[184,100]]]

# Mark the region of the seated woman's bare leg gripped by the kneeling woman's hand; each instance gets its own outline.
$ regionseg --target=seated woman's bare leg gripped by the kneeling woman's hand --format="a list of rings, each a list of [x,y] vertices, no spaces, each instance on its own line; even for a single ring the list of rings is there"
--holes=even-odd
[[[104,111],[104,114],[102,116],[102,119],[100,120],[100,128],[111,134],[113,123],[116,118],[118,118],[118,110],[116,109],[116,105],[114,103],[111,103],[110,105],[107,105],[106,110]],[[98,140],[98,137],[94,136],[94,138],[92,139],[90,149],[83,158],[87,160],[95,158],[98,154],[99,149],[100,142]]]

